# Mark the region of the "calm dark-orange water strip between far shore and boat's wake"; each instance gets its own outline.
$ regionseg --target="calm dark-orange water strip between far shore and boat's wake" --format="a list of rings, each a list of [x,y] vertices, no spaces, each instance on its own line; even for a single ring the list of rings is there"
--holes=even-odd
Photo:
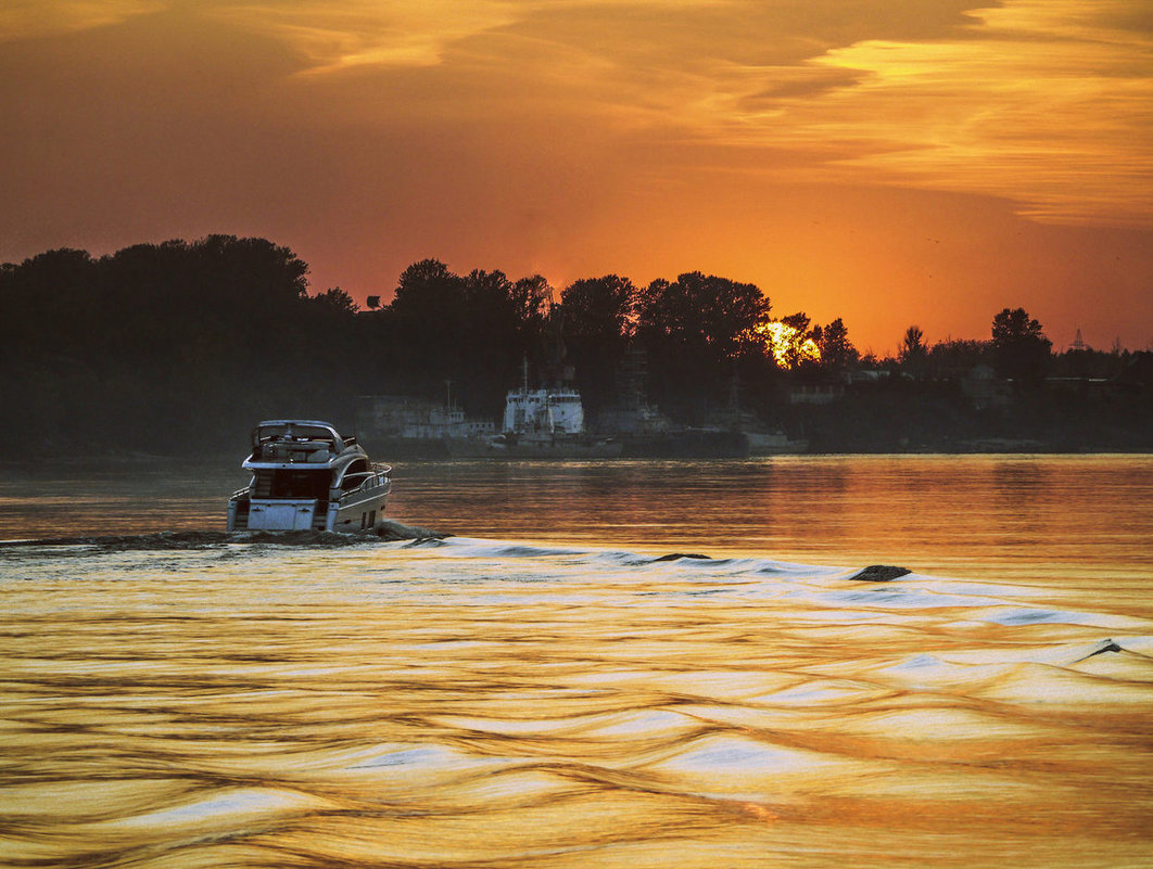
[[[0,481],[0,538],[211,529],[235,462]],[[1150,456],[398,463],[389,513],[458,535],[771,554],[1041,584],[1153,567]]]

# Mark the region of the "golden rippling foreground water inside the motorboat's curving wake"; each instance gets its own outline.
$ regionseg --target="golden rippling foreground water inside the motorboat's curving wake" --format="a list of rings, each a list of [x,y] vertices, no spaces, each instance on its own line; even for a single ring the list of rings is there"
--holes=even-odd
[[[0,864],[1143,866],[1128,598],[696,552],[0,549]]]

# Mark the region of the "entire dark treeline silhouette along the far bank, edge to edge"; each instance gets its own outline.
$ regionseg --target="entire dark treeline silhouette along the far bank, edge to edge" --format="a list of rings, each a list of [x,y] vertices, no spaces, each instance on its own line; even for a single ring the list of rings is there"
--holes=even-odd
[[[364,311],[339,287],[309,295],[307,275],[292,250],[228,235],[3,264],[0,415],[50,453],[235,453],[258,418],[347,425],[364,394],[451,388],[496,420],[527,361],[534,385],[574,377],[593,420],[642,386],[680,424],[732,424],[739,407],[817,449],[1151,446],[1148,354],[1054,355],[1019,308],[994,317],[987,341],[928,346],[911,326],[877,360],[839,318],[774,320],[756,286],[700,272],[558,294],[540,275],[425,259]]]

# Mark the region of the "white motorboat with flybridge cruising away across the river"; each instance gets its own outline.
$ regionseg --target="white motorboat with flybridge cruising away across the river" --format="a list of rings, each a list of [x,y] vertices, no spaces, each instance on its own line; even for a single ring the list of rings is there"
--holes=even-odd
[[[267,420],[253,429],[241,464],[249,484],[228,499],[229,531],[362,531],[384,520],[387,464],[355,437],[316,420]]]

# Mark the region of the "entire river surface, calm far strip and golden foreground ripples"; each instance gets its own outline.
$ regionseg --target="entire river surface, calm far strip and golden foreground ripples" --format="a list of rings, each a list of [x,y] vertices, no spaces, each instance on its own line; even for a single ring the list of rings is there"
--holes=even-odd
[[[458,536],[9,473],[0,866],[1153,862],[1153,458],[394,476]]]

